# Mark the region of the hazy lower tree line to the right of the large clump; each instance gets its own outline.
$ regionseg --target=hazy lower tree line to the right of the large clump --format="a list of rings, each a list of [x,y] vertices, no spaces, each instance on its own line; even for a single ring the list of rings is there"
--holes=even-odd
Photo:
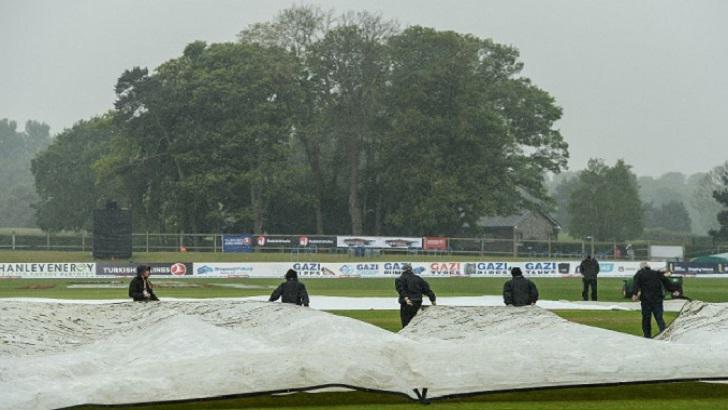
[[[707,173],[637,177],[624,161],[592,159],[585,170],[553,178],[554,215],[575,238],[683,240],[718,235],[728,162]],[[724,194],[723,194],[724,195]],[[718,215],[718,218],[716,218]]]

